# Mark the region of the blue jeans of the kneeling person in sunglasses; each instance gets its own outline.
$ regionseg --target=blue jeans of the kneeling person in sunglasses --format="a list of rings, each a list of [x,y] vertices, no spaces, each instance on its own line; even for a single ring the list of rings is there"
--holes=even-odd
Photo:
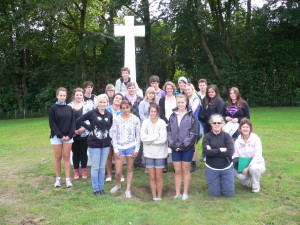
[[[234,170],[233,166],[226,170],[205,169],[205,177],[208,186],[208,193],[212,196],[224,195],[234,196]]]

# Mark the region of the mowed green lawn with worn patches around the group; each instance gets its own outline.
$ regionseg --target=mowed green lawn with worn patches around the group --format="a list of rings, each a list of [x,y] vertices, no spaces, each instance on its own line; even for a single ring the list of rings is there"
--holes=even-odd
[[[192,174],[190,199],[173,200],[170,165],[160,202],[151,201],[142,169],[134,170],[130,200],[124,196],[125,184],[119,193],[109,193],[114,181],[105,184],[107,195],[99,197],[92,194],[90,179],[75,180],[71,189],[53,188],[47,118],[0,121],[0,224],[299,224],[299,115],[300,108],[251,109],[267,167],[260,193],[236,180],[234,197],[210,197],[200,163]]]

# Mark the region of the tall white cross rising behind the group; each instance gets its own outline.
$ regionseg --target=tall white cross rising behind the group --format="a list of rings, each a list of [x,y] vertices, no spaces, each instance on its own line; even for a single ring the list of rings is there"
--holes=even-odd
[[[125,16],[125,26],[114,26],[115,36],[125,36],[124,66],[129,67],[132,81],[136,81],[134,37],[145,37],[145,26],[134,26],[134,16]]]

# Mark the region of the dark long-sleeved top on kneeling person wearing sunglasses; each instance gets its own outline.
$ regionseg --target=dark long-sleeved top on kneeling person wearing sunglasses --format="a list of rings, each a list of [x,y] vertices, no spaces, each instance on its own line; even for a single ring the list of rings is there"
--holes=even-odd
[[[207,149],[207,145],[211,150]],[[224,131],[214,134],[212,131],[205,134],[202,142],[203,153],[206,155],[206,164],[215,169],[224,169],[232,162],[234,143],[230,135]],[[220,148],[227,148],[221,152]]]

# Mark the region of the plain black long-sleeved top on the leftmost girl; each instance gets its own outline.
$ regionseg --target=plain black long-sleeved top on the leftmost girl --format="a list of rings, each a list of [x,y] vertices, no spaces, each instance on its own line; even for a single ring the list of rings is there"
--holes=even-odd
[[[75,118],[73,109],[68,105],[52,105],[49,109],[50,137],[55,135],[60,139],[63,136],[73,138],[75,133]]]

